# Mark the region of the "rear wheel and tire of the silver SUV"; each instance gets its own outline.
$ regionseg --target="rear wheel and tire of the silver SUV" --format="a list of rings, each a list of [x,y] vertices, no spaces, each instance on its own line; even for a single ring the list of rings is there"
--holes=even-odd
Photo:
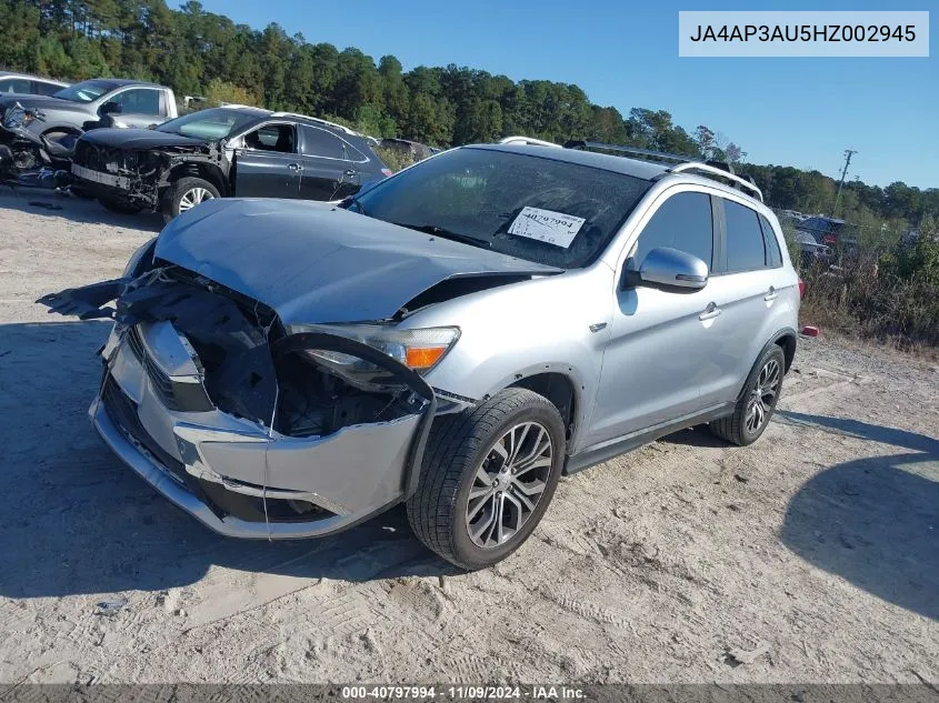
[[[711,433],[738,446],[760,439],[779,402],[785,369],[782,349],[773,344],[753,364],[733,414],[711,422],[708,425]]]

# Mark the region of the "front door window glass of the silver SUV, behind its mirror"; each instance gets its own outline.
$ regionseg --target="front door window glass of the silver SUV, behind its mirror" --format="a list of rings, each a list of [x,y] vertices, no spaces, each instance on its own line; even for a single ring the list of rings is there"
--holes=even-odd
[[[713,234],[710,195],[691,192],[672,195],[656,210],[639,234],[632,254],[635,267],[641,267],[646,255],[657,247],[669,247],[698,257],[710,269]]]

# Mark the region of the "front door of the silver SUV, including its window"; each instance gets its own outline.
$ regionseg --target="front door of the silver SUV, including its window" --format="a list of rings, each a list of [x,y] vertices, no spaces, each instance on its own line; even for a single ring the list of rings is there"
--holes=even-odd
[[[693,254],[710,270],[715,251],[710,197],[692,191],[663,195],[626,265],[638,270],[657,247]],[[588,445],[698,412],[701,386],[719,374],[715,341],[720,334],[720,308],[708,285],[689,292],[620,288],[616,298]]]

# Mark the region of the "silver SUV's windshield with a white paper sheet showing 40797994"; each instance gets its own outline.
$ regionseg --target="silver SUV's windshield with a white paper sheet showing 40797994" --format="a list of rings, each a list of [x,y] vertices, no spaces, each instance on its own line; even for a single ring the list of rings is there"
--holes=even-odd
[[[457,149],[360,195],[362,214],[519,259],[588,265],[651,183],[540,157]]]

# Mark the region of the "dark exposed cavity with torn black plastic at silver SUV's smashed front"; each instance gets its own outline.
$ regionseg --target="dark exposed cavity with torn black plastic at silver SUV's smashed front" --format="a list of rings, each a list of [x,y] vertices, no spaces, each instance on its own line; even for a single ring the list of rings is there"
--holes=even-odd
[[[113,309],[106,307],[111,301]],[[432,398],[419,375],[386,354],[329,334],[288,337],[263,304],[173,265],[40,302],[80,319],[113,317],[123,331],[171,322],[191,344],[213,406],[289,436],[323,436],[353,424],[396,420],[420,412]],[[323,361],[329,354],[358,358],[359,371],[343,373]],[[174,399],[179,410],[204,410],[180,393]]]

